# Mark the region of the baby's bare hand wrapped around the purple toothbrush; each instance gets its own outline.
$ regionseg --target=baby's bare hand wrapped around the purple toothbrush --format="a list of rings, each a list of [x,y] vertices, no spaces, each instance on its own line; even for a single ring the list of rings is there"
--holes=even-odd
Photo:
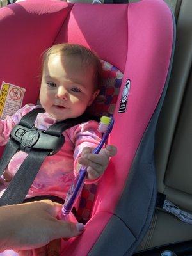
[[[116,155],[116,147],[107,145],[106,148],[102,148],[99,154],[92,154],[93,148],[84,147],[82,150],[81,157],[79,157],[78,164],[87,167],[87,179],[95,180],[106,170],[109,157]],[[77,168],[79,169],[78,166]]]

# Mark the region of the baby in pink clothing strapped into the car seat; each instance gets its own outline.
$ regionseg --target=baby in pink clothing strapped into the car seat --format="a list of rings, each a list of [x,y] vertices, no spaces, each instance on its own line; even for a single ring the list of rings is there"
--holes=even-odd
[[[81,116],[99,93],[102,65],[99,58],[86,47],[77,44],[58,44],[44,53],[40,104],[45,113],[38,113],[35,127],[46,130],[52,124]],[[5,145],[13,127],[29,111],[40,106],[26,105],[13,116],[0,122],[0,145]],[[95,182],[108,166],[109,157],[116,148],[108,145],[98,155],[93,147],[100,142],[98,123],[90,120],[63,132],[65,143],[53,156],[46,157],[27,197],[54,195],[64,198],[81,164],[87,166],[86,182]],[[1,177],[0,195],[3,195],[15,175],[26,152],[19,151],[11,159]]]

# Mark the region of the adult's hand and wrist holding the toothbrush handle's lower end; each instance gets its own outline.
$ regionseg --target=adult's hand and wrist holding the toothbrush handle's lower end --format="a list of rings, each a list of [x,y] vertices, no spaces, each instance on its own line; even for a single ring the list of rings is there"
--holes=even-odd
[[[40,248],[54,239],[78,236],[82,223],[57,220],[62,205],[42,200],[0,207],[0,248],[28,250]]]

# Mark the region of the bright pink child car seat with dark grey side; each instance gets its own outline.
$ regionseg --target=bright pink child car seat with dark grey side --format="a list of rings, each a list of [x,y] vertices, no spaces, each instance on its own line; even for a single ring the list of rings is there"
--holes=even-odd
[[[132,255],[147,232],[156,204],[154,135],[174,28],[163,0],[95,5],[28,0],[0,9],[0,82],[26,88],[23,104],[36,103],[40,55],[53,44],[83,44],[124,74],[109,138],[118,154],[97,186],[86,230],[65,241],[61,255]]]

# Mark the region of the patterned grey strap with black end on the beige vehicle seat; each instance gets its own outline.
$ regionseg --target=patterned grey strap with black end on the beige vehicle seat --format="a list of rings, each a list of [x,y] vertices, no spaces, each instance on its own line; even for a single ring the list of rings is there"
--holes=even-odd
[[[157,193],[156,207],[170,212],[185,223],[192,224],[192,214],[179,209],[179,207],[167,200],[166,195],[163,193]]]

